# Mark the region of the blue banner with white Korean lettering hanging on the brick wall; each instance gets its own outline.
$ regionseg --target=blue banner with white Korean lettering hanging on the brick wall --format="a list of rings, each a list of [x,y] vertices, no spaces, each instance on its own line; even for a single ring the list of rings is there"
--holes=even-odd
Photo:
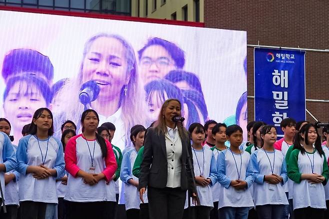
[[[277,127],[282,119],[305,120],[305,52],[254,48],[255,120]]]

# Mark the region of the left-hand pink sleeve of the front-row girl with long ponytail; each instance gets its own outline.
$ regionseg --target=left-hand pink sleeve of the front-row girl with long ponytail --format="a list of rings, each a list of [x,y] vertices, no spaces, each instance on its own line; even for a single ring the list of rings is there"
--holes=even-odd
[[[65,169],[73,177],[76,177],[77,172],[80,170],[80,168],[76,165],[75,148],[76,148],[76,138],[73,137],[68,140],[65,146],[65,154],[64,154]]]

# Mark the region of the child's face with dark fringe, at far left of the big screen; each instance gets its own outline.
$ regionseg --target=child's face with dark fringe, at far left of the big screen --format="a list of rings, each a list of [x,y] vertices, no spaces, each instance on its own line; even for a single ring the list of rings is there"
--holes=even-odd
[[[42,107],[47,104],[39,88],[26,81],[15,82],[3,100],[5,117],[11,121],[14,133],[20,133],[22,127],[32,121],[34,112]]]

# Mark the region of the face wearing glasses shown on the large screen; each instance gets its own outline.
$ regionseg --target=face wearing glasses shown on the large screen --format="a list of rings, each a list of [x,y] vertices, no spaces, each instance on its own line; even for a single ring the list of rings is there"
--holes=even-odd
[[[148,46],[140,58],[140,75],[144,84],[163,77],[177,69],[168,51],[160,45]]]

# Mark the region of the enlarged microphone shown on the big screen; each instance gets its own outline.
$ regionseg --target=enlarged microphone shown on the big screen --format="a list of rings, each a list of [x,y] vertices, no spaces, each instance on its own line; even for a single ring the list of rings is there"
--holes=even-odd
[[[95,99],[97,99],[100,88],[98,84],[93,81],[87,81],[82,84],[80,92],[79,92],[79,100],[83,105],[86,105]]]

